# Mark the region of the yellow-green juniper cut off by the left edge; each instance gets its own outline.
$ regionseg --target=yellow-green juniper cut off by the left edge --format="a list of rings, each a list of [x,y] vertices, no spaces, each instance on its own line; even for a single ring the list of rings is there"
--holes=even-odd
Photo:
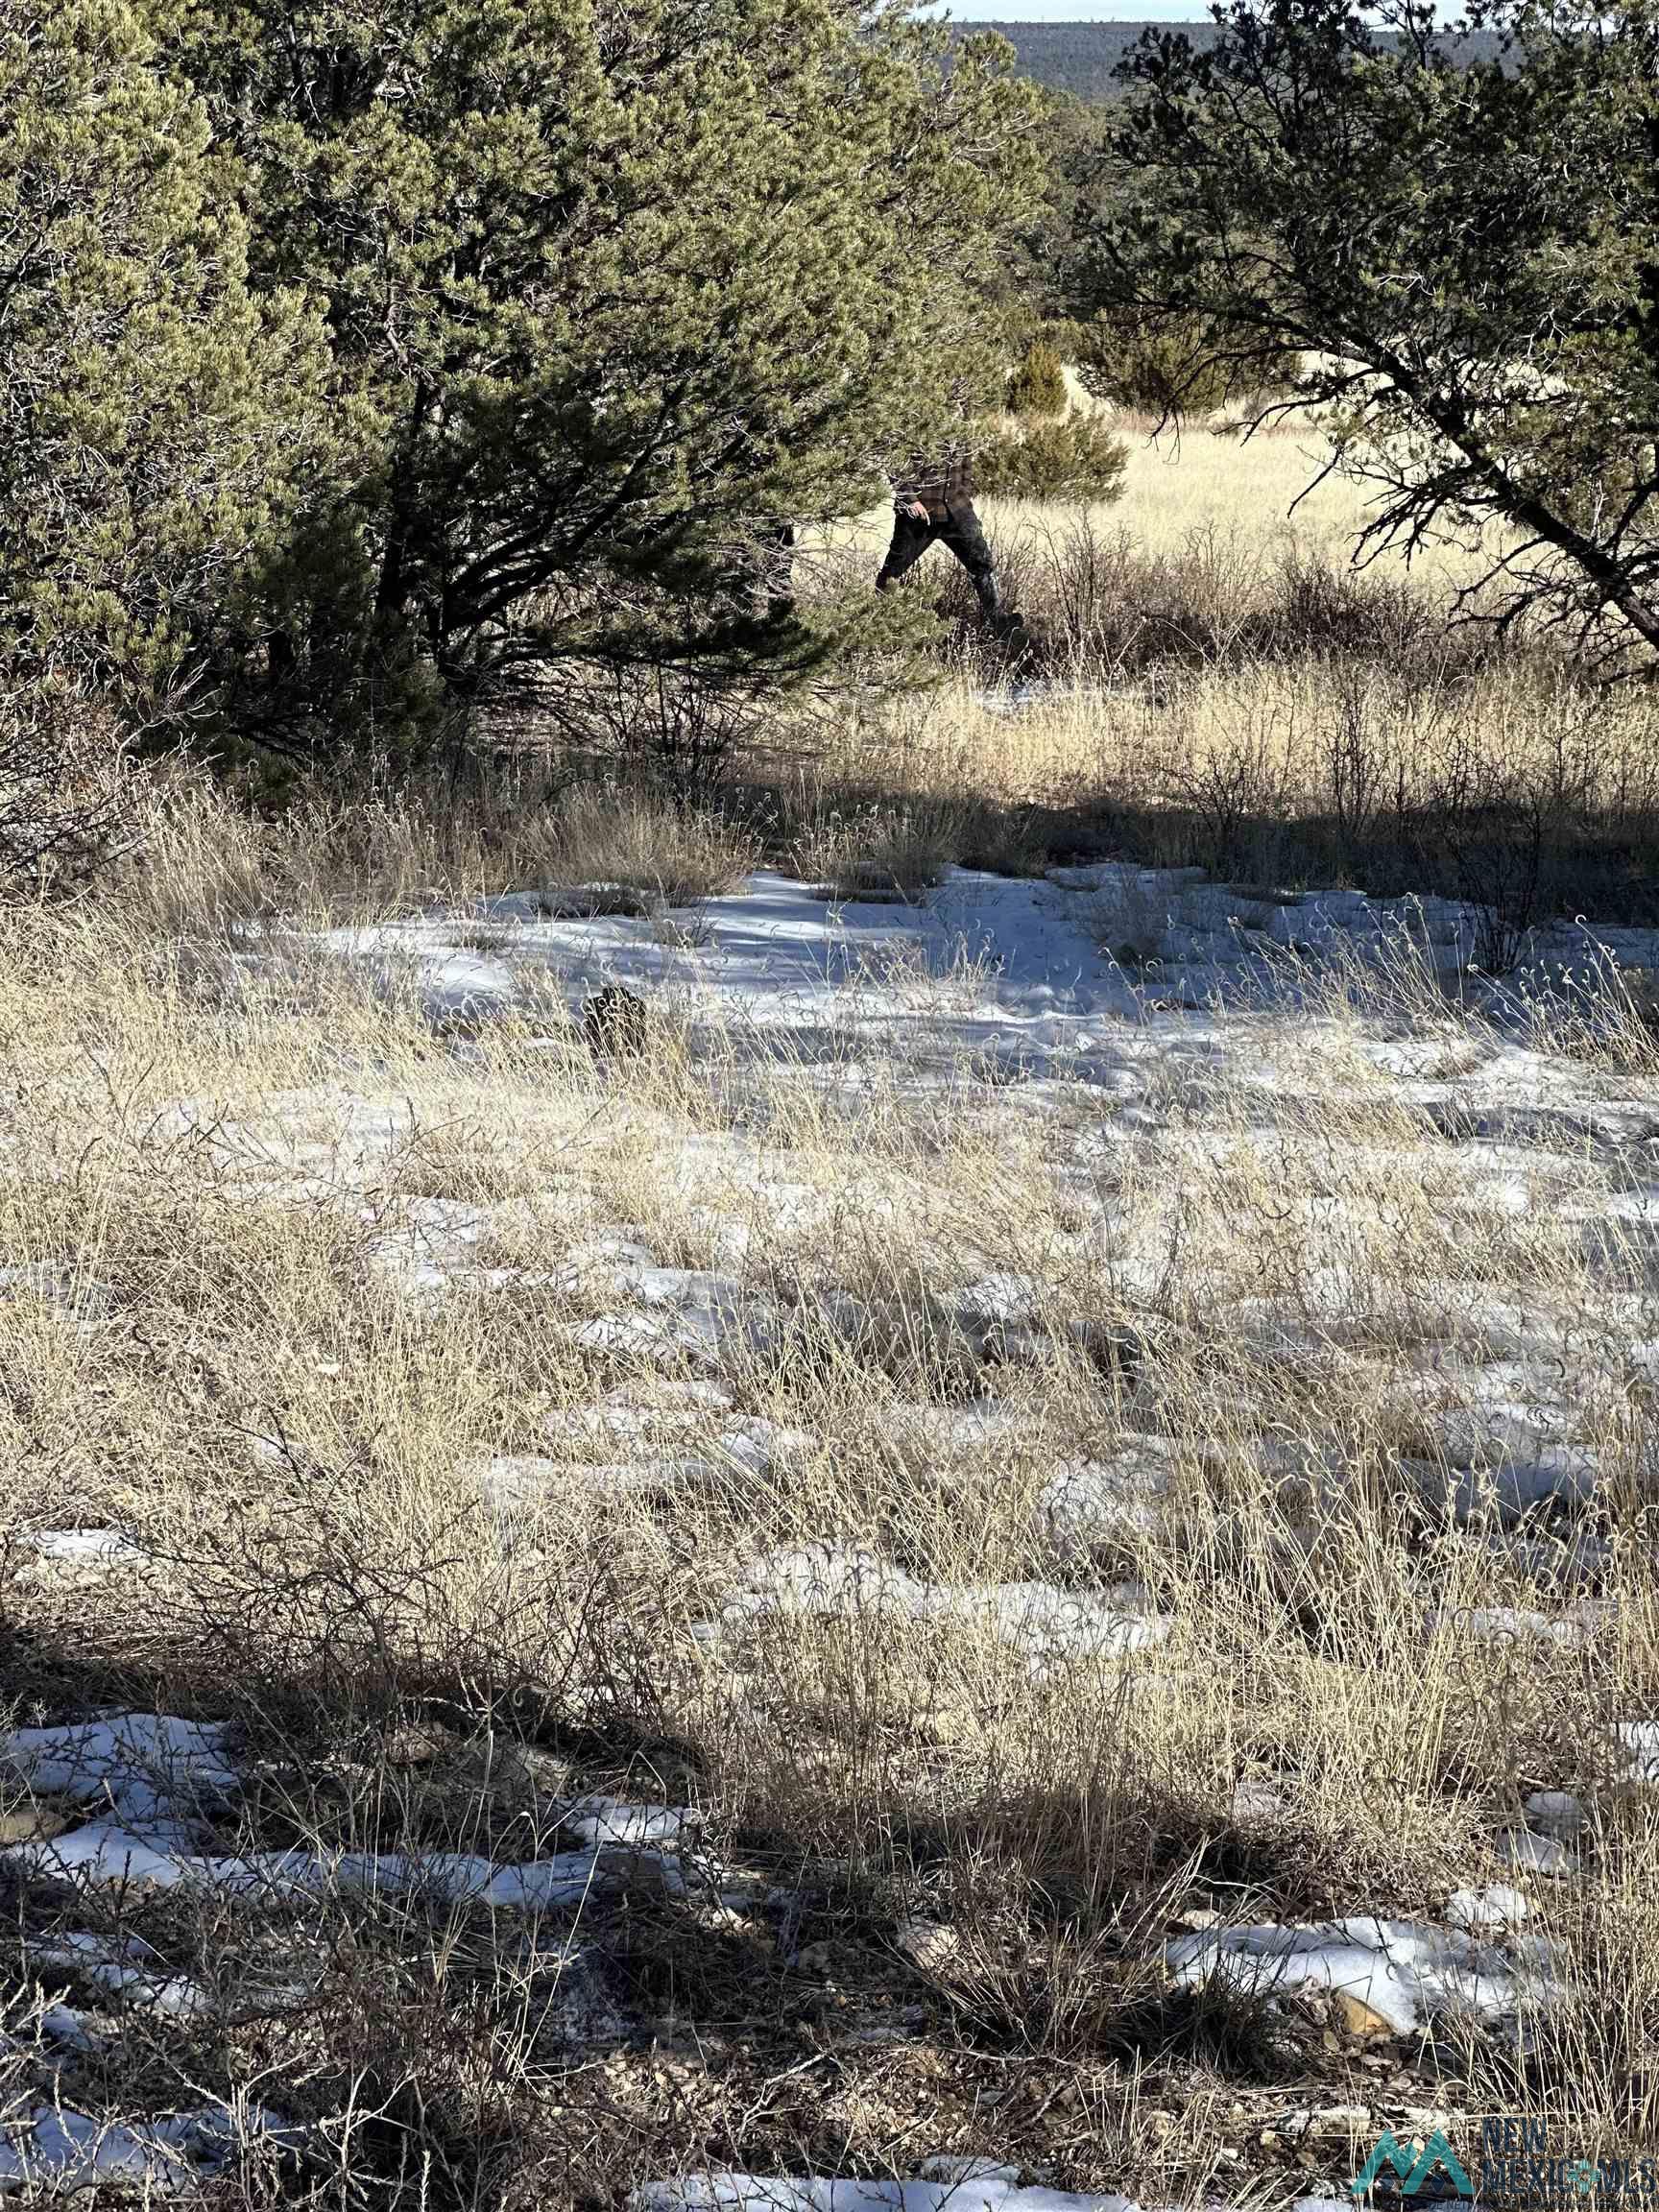
[[[0,0],[0,664],[153,714],[237,619],[321,385],[122,0]]]

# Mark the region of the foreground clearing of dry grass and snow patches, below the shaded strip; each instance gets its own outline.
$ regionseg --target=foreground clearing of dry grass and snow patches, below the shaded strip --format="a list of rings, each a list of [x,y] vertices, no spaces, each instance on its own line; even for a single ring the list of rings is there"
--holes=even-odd
[[[221,830],[4,920],[0,2188],[1652,2139],[1652,931]]]

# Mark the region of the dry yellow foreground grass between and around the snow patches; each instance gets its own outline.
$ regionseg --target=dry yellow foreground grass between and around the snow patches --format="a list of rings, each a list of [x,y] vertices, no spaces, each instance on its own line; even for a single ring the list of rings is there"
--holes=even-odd
[[[1659,1113],[1650,1062],[1555,1057],[1555,1119],[1486,1141],[1420,1086],[1493,1113],[1495,1040],[1405,987],[1385,1026],[1334,991],[1201,1048],[1126,1031],[1117,1106],[741,1031],[602,1064],[535,1006],[442,1044],[349,962],[303,998],[292,967],[248,962],[234,998],[179,969],[153,914],[217,911],[210,845],[175,821],[150,887],[7,922],[0,1248],[44,1270],[0,1298],[13,1699],[237,1723],[261,1781],[221,1847],[522,1860],[557,1796],[613,1787],[692,1803],[723,1871],[630,1876],[533,1940],[418,1896],[33,1885],[22,1989],[93,1927],[217,1991],[197,2022],[122,2015],[66,2101],[257,2075],[330,2203],[593,2201],[710,2143],[843,2172],[922,2143],[1152,2199],[1340,2185],[1347,2137],[1283,2135],[1290,2104],[1644,2141],[1659,1823],[1610,1723],[1659,1694],[1626,1358],[1659,1316],[1604,1102]],[[606,1237],[714,1267],[730,1327],[593,1332],[653,1312]],[[1009,1270],[1018,1343],[973,1292]],[[1588,1513],[1524,1540],[1449,1442],[1517,1356],[1599,1467]],[[721,1400],[686,1389],[710,1369]],[[606,1400],[630,1429],[595,1427]],[[741,1420],[787,1438],[770,1464]],[[593,1471],[617,1462],[695,1471]],[[31,1562],[66,1524],[139,1559]],[[825,1606],[754,1610],[787,1553]],[[956,1599],[916,1617],[889,1575]],[[1033,1666],[973,1593],[1044,1579],[1166,1641],[1040,1639]],[[1526,1626],[1586,1588],[1588,1632]],[[1511,1635],[1482,1626],[1502,1606]],[[1537,1787],[1590,1834],[1575,1880],[1528,1885],[1562,1995],[1524,2086],[1502,2035],[1374,2044],[1318,1995],[1166,1986],[1183,1916],[1433,1918]]]

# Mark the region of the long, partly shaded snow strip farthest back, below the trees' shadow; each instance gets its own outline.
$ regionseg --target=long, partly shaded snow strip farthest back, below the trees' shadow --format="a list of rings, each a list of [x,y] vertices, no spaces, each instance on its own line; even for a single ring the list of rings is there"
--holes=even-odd
[[[1473,905],[1360,891],[1292,898],[1214,885],[1201,869],[1124,863],[1042,878],[949,869],[916,905],[834,902],[774,869],[661,916],[568,918],[546,905],[544,894],[513,891],[467,911],[334,929],[323,942],[389,980],[414,978],[431,1011],[449,1015],[504,1009],[522,975],[540,969],[568,1004],[622,982],[661,991],[692,1018],[719,1013],[754,1029],[847,1018],[852,1000],[860,1026],[891,1026],[916,1022],[916,982],[927,975],[929,1029],[1013,1064],[1086,1057],[1102,1044],[1102,1020],[1283,991],[1285,956],[1358,964],[1411,956],[1500,1004],[1528,982],[1584,982],[1608,960],[1659,967],[1659,931],[1553,925],[1528,933],[1517,971],[1500,982],[1475,973],[1491,916]],[[489,951],[465,942],[480,929],[493,938]],[[940,978],[951,982],[947,1006]]]

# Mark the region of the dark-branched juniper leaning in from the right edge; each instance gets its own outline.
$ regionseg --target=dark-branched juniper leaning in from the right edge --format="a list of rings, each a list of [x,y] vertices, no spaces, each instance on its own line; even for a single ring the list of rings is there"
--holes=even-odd
[[[1495,0],[1495,60],[1449,46],[1418,0],[1214,13],[1206,51],[1164,33],[1133,55],[1084,303],[1179,334],[1192,376],[1287,367],[1376,493],[1363,549],[1498,524],[1475,608],[1644,659],[1657,0]]]

